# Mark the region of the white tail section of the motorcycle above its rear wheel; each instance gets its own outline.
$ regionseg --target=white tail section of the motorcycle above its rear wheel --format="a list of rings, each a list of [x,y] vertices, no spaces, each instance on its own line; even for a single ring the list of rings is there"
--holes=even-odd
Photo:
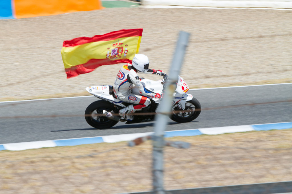
[[[86,91],[89,92],[90,94],[103,99],[105,101],[111,102],[113,104],[117,104],[121,107],[126,107],[123,103],[123,101],[114,98],[112,95],[109,94],[109,85],[99,85],[99,86],[89,86],[86,87]]]

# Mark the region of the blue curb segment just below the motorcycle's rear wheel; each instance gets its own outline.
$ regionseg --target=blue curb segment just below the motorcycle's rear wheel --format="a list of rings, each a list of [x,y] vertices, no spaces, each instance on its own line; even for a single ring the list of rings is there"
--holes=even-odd
[[[68,146],[68,145],[81,145],[81,144],[90,144],[90,143],[102,143],[102,137],[93,137],[93,138],[80,138],[80,139],[63,139],[63,140],[54,140],[57,146]]]

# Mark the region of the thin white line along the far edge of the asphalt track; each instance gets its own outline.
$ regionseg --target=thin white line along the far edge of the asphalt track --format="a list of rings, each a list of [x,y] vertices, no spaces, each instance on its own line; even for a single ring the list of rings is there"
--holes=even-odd
[[[240,87],[251,87],[251,86],[272,86],[272,85],[284,85],[284,84],[292,84],[292,83],[271,83],[271,84],[262,84],[262,85],[250,85],[250,86],[228,86],[228,87],[218,87],[218,88],[197,88],[190,90],[208,90],[208,89],[221,89],[221,88],[240,88]],[[62,97],[62,98],[44,98],[44,99],[31,99],[31,100],[15,100],[15,101],[3,101],[0,103],[7,102],[26,102],[26,101],[37,101],[37,100],[55,100],[55,99],[66,99],[66,98],[82,98],[82,97],[94,97],[91,96],[73,96],[73,97]]]

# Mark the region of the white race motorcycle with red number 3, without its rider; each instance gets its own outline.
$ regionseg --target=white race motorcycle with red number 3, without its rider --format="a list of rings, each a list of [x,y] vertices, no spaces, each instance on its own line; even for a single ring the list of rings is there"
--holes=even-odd
[[[165,82],[168,81],[168,76],[165,74],[163,79],[159,81],[140,79],[147,90],[162,94],[166,86]],[[201,113],[201,104],[191,94],[186,93],[189,87],[182,77],[178,76],[176,85],[170,118],[176,122],[190,122]],[[86,88],[86,91],[101,99],[91,103],[85,110],[85,120],[89,125],[97,129],[106,129],[114,126],[119,121],[126,121],[119,116],[119,110],[127,107],[130,103],[117,99],[114,96],[112,86],[90,86]],[[136,86],[132,88],[132,93],[139,95],[139,90]],[[150,100],[151,104],[141,111],[133,113],[134,119],[127,121],[126,124],[153,121],[161,99],[152,98]]]

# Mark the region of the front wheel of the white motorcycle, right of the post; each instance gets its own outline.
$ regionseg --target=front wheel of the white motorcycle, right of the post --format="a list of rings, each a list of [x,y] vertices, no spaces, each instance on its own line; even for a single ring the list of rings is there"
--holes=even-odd
[[[201,104],[193,98],[191,101],[185,103],[185,110],[181,110],[177,105],[172,107],[172,114],[170,115],[171,120],[176,122],[190,122],[197,118],[201,113]]]

